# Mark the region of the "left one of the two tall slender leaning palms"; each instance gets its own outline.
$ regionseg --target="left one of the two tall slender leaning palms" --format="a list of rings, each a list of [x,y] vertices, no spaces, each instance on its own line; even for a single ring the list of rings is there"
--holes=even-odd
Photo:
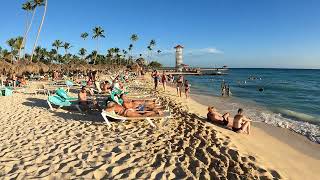
[[[22,9],[27,12],[27,20],[26,20],[26,25],[27,26],[26,26],[26,31],[25,31],[24,36],[23,36],[22,46],[21,46],[21,47],[25,47],[25,44],[26,44],[27,38],[28,38],[28,34],[29,34],[29,31],[31,29],[32,22],[33,22],[33,19],[34,19],[34,15],[36,13],[36,8],[30,1],[27,1],[26,3],[22,4]],[[32,12],[32,17],[31,17],[31,20],[29,21],[30,12]],[[21,58],[21,50],[22,49],[20,48],[19,49],[19,59],[18,59],[19,61],[20,61],[20,58]],[[24,52],[22,54],[24,54]]]

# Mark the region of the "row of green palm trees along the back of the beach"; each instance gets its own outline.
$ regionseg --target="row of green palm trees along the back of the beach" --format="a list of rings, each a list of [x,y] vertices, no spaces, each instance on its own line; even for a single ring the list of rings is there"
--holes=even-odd
[[[119,47],[113,47],[107,49],[105,54],[103,50],[100,51],[100,43],[103,38],[106,37],[105,30],[101,26],[96,26],[92,29],[91,33],[83,32],[80,34],[80,38],[86,42],[88,37],[92,37],[96,41],[96,48],[92,52],[88,52],[85,47],[81,47],[77,50],[76,54],[71,54],[70,49],[76,47],[72,46],[69,42],[62,40],[55,40],[52,42],[52,49],[46,49],[38,45],[43,24],[45,21],[48,7],[48,0],[28,0],[22,4],[22,10],[26,13],[26,24],[23,30],[23,36],[10,38],[6,41],[9,50],[0,47],[0,61],[5,60],[11,64],[25,64],[25,63],[45,63],[45,64],[67,64],[67,63],[80,63],[80,64],[105,64],[111,66],[130,66],[133,64],[139,64],[140,66],[148,66],[147,61],[143,58],[143,54],[139,57],[135,57],[134,60],[133,50],[139,40],[137,34],[131,34],[128,48],[120,49]],[[35,35],[35,42],[31,54],[26,53],[26,44],[29,39],[29,32],[34,23],[34,19],[37,16],[37,11],[41,11],[42,18],[38,27],[37,34]],[[159,62],[152,59],[153,50],[156,46],[156,41],[152,39],[148,44],[148,61],[151,62],[149,67],[161,67]],[[64,50],[61,53],[61,48]],[[157,51],[160,54],[160,50]]]

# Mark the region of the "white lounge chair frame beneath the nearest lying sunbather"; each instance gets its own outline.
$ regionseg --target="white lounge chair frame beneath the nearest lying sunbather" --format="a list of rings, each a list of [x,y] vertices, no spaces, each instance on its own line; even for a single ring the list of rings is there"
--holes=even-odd
[[[170,110],[164,111],[163,116],[155,116],[155,117],[124,117],[124,116],[119,116],[114,112],[107,112],[104,110],[102,111],[101,115],[109,127],[111,127],[111,122],[109,121],[109,118],[111,118],[115,120],[120,120],[121,122],[125,122],[127,120],[146,120],[152,127],[156,128],[156,125],[152,122],[152,120],[164,119],[166,122],[171,118],[171,111]]]

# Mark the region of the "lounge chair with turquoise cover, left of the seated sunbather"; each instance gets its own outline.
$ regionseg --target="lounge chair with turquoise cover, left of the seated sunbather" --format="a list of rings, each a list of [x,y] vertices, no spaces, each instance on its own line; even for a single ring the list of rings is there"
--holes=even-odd
[[[54,96],[48,96],[47,103],[50,107],[50,110],[54,111],[52,104],[59,106],[59,108],[62,107],[70,107],[70,106],[75,106],[77,110],[82,113],[82,110],[80,109],[80,106],[78,105],[78,101],[69,101],[66,100],[58,95]]]

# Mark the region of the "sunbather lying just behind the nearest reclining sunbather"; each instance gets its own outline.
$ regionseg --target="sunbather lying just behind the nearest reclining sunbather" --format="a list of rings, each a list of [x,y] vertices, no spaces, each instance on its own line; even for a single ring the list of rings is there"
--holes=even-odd
[[[154,110],[156,109],[155,100],[130,100],[125,94],[121,94],[120,98],[123,100],[122,106],[127,109],[138,110]]]

